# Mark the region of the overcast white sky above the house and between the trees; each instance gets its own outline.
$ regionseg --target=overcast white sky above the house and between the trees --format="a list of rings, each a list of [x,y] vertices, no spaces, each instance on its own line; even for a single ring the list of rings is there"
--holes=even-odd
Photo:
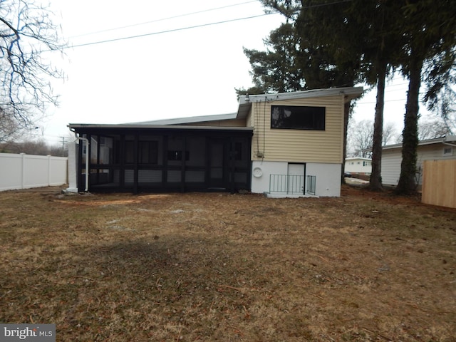
[[[251,0],[53,0],[52,9],[75,47],[54,57],[66,73],[64,82],[54,82],[60,105],[49,108],[33,133],[51,143],[68,137],[68,123],[236,112],[234,88],[252,86],[242,48],[264,50],[263,39],[284,21],[279,14],[261,16],[263,7]],[[259,17],[233,21],[251,16]],[[219,21],[231,22],[180,29]],[[138,35],[147,36],[96,43]],[[94,44],[78,46],[88,43]],[[385,123],[394,122],[398,132],[406,87],[399,78],[385,94]],[[355,120],[373,120],[374,108],[375,91],[359,101]]]

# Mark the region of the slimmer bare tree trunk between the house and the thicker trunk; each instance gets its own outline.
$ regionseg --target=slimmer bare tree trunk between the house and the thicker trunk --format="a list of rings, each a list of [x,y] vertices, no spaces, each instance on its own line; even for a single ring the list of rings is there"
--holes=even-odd
[[[381,66],[377,81],[377,102],[375,103],[375,120],[373,123],[372,173],[369,189],[383,190],[382,186],[382,141],[383,141],[383,107],[385,105],[386,66]]]

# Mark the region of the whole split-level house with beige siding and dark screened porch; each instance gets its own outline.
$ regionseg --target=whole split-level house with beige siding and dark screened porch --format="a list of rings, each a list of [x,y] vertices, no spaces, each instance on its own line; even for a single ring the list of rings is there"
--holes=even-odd
[[[344,104],[363,88],[245,95],[237,113],[70,124],[68,191],[339,196]]]

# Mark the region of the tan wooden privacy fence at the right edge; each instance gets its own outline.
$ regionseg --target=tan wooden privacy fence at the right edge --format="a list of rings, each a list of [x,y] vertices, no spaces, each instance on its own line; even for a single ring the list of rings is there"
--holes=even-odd
[[[456,160],[423,162],[421,202],[456,208]]]

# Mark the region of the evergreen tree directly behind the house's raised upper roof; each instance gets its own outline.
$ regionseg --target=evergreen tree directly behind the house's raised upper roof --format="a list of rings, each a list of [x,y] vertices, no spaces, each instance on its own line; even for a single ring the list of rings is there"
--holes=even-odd
[[[252,65],[255,86],[237,93],[265,93],[296,91],[316,88],[354,86],[357,81],[357,61],[336,63],[336,58],[326,43],[314,39],[310,26],[300,20],[300,1],[264,1],[266,6],[281,11],[287,23],[272,31],[265,41],[264,52],[245,49]],[[292,22],[293,24],[289,24]],[[313,26],[312,26],[313,27]],[[346,155],[346,131],[351,113],[351,103],[344,107],[343,157]],[[342,165],[345,165],[343,163]],[[344,181],[343,172],[341,180]]]

